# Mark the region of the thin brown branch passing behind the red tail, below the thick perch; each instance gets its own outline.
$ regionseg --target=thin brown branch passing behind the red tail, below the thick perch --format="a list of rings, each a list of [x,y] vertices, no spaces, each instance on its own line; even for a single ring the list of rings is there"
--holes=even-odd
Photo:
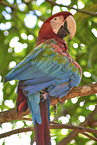
[[[76,127],[76,126],[73,126],[73,125],[61,124],[61,123],[55,123],[55,122],[54,122],[54,124],[50,125],[50,129],[63,129],[63,128],[72,129],[74,131],[77,131],[78,133],[82,133],[83,135],[87,136],[90,139],[93,139],[93,140],[97,141],[96,137],[93,137],[90,134],[86,133],[86,132],[89,132],[89,133],[97,134],[96,129],[85,128],[85,127]],[[4,138],[4,137],[7,137],[7,136],[10,136],[10,135],[13,135],[13,134],[28,132],[28,131],[34,131],[34,127],[15,129],[15,130],[0,134],[0,138]]]

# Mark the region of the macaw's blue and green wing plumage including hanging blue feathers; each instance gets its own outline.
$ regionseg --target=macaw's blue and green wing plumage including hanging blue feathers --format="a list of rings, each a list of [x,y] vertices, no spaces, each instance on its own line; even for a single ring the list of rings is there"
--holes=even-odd
[[[35,125],[35,121],[41,123],[39,91],[48,88],[49,96],[61,98],[79,84],[81,75],[70,58],[55,52],[53,45],[42,43],[6,75],[5,82],[13,79],[19,80],[23,94],[28,97]]]

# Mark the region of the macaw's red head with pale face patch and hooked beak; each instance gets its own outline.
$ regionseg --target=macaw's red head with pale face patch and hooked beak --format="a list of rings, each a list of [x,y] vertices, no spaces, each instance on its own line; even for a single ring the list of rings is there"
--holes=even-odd
[[[59,12],[48,18],[40,28],[37,44],[47,39],[63,39],[68,34],[70,40],[76,32],[76,22],[70,12]]]

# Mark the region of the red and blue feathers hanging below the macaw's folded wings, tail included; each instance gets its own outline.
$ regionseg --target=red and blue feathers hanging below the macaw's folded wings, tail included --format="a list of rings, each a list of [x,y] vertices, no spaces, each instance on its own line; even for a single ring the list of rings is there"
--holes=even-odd
[[[49,98],[41,102],[40,93],[34,93],[26,97],[18,86],[17,113],[20,115],[27,110],[28,106],[33,118],[36,145],[50,145]]]

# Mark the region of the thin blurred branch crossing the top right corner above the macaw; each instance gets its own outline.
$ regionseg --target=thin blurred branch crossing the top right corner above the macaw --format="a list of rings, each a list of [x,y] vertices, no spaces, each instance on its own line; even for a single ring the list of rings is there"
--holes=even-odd
[[[62,5],[62,4],[57,4],[55,3],[54,1],[51,1],[51,0],[46,0],[48,3],[50,3],[51,5],[55,6],[59,6],[59,7],[66,7],[68,9],[73,9],[73,10],[76,10],[77,12],[81,12],[81,13],[85,13],[85,14],[88,14],[88,15],[92,15],[92,16],[97,16],[97,13],[94,13],[94,12],[89,12],[89,11],[84,11],[84,10],[80,10],[80,9],[77,9],[77,8],[74,8],[74,7],[71,7],[71,6],[66,6],[66,5]]]

